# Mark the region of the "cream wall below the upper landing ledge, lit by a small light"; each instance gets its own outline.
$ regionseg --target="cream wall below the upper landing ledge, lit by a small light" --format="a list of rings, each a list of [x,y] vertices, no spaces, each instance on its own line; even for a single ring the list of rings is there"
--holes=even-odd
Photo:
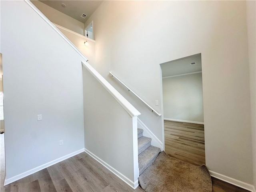
[[[76,34],[63,30],[61,28],[58,28],[58,29],[74,44],[74,46],[76,46],[76,48],[78,48],[84,54],[84,56],[86,56],[86,58],[88,58],[90,65],[94,66],[95,65],[95,42],[88,40],[89,45],[85,46],[84,45],[84,42],[86,41],[85,37],[78,36]]]

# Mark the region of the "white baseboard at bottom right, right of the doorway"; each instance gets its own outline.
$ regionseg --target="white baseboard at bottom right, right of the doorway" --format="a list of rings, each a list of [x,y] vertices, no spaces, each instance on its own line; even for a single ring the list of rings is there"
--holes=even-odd
[[[246,189],[248,191],[256,192],[254,186],[251,185],[251,184],[248,184],[248,183],[236,180],[234,178],[231,178],[231,177],[228,177],[228,176],[216,173],[216,172],[211,171],[211,170],[209,170],[209,172],[210,172],[210,175],[212,177],[214,177],[214,178],[217,178],[217,179],[222,180],[224,182],[227,182],[227,183],[230,183],[232,185],[238,186],[240,188]]]

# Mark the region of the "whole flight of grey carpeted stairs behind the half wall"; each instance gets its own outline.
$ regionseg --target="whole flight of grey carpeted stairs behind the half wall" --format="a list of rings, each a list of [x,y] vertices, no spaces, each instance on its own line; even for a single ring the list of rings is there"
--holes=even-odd
[[[139,175],[154,162],[160,151],[160,148],[151,145],[151,138],[143,136],[143,129],[138,128]]]

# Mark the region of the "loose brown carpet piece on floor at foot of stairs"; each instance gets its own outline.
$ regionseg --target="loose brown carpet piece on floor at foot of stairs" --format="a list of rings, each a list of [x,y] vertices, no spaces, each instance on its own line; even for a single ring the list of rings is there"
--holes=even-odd
[[[164,151],[139,177],[146,192],[212,192],[205,165],[194,166],[169,157]]]

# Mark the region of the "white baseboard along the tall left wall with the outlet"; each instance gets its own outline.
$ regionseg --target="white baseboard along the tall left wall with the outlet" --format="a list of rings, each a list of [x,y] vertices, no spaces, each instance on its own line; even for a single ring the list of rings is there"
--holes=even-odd
[[[14,176],[14,177],[5,179],[5,180],[4,180],[4,186],[6,186],[6,185],[8,185],[8,184],[10,184],[10,183],[12,183],[12,182],[14,182],[14,181],[17,181],[17,180],[19,180],[19,179],[22,179],[22,178],[24,178],[24,177],[26,177],[26,176],[29,176],[29,175],[31,175],[31,174],[33,174],[33,173],[35,173],[35,172],[38,172],[38,171],[40,171],[40,170],[42,170],[42,169],[45,169],[45,168],[47,168],[47,167],[49,167],[49,166],[52,166],[52,165],[54,165],[54,164],[56,164],[56,163],[58,163],[58,162],[61,162],[61,161],[63,161],[63,160],[66,160],[66,159],[68,159],[68,158],[70,158],[70,157],[72,157],[72,156],[75,156],[75,155],[77,155],[77,154],[79,154],[79,153],[82,153],[82,152],[84,152],[84,148],[82,148],[82,149],[80,149],[80,150],[78,150],[78,151],[75,151],[75,152],[73,152],[73,153],[70,153],[70,154],[68,154],[68,155],[62,156],[62,157],[60,157],[60,158],[58,158],[58,159],[56,159],[56,160],[50,161],[50,162],[48,162],[48,163],[46,163],[46,164],[40,165],[40,166],[38,166],[38,167],[36,167],[36,168],[30,169],[30,170],[28,170],[28,171],[26,171],[26,172],[23,172],[23,173],[21,173],[21,174],[18,174],[18,175],[16,175],[16,176]]]

